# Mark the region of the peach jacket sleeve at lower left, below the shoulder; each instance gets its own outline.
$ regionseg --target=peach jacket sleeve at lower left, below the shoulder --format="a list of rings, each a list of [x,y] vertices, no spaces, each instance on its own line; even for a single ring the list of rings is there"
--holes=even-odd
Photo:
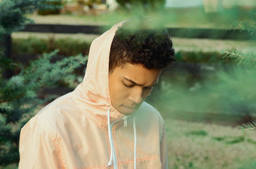
[[[63,168],[54,145],[54,133],[31,119],[20,131],[19,169]]]

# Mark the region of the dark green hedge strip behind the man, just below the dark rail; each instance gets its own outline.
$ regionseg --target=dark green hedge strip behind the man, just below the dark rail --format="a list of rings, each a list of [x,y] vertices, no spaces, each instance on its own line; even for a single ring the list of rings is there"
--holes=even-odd
[[[41,54],[50,52],[54,48],[60,50],[61,55],[88,54],[90,41],[76,40],[73,38],[13,38],[12,52],[13,54]],[[175,41],[174,41],[175,43]],[[175,57],[178,62],[194,62],[194,63],[234,63],[234,59],[223,59],[225,54],[220,52],[203,52],[203,51],[184,51],[176,52]]]

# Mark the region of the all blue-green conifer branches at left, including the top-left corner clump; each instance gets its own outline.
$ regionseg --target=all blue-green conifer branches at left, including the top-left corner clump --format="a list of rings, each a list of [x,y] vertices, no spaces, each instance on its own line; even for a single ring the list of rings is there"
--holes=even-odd
[[[60,6],[46,4],[51,0],[2,0],[0,1],[0,37],[10,36],[32,20],[25,14],[36,9],[55,9]],[[0,39],[1,39],[0,38]],[[40,87],[56,84],[59,80],[74,80],[71,75],[77,67],[86,62],[86,57],[77,55],[57,62],[51,62],[51,54],[31,61],[27,68],[4,55],[0,49],[0,168],[19,162],[20,128],[33,115],[38,105],[51,99],[40,99],[36,92]],[[6,70],[19,70],[12,77],[4,77]]]

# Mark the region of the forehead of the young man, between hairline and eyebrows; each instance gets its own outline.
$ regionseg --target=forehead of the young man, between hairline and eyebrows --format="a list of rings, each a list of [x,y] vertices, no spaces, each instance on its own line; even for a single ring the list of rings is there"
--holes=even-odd
[[[148,70],[142,64],[127,62],[123,66],[116,68],[113,73],[116,73],[119,78],[125,77],[138,84],[148,85],[157,82],[161,72],[162,70],[159,69]]]

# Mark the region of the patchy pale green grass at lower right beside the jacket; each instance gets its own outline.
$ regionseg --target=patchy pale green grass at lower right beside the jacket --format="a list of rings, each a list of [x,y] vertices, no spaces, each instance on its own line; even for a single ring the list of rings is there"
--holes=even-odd
[[[173,119],[165,123],[169,168],[236,169],[255,160],[253,131]]]

